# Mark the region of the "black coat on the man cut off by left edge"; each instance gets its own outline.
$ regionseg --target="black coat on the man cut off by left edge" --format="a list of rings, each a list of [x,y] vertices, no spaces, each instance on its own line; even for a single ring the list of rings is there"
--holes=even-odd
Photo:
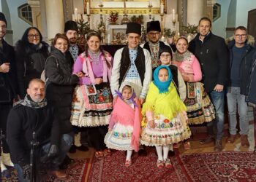
[[[0,48],[0,66],[3,63],[10,63],[8,73],[0,73],[0,102],[12,103],[12,99],[17,97],[18,89],[15,52],[12,46],[2,40],[3,47]]]

